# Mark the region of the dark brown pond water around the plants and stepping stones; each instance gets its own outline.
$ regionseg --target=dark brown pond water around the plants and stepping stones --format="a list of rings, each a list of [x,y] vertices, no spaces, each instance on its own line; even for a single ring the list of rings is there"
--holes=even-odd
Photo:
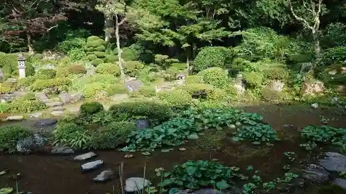
[[[297,162],[307,158],[307,153],[300,148],[299,130],[309,124],[321,124],[321,119],[329,119],[329,125],[346,127],[346,118],[338,115],[335,110],[313,109],[309,106],[291,105],[274,106],[261,105],[243,107],[249,113],[259,113],[268,124],[278,131],[281,142],[274,146],[254,146],[247,143],[234,143],[228,135],[221,133],[206,134],[198,140],[190,140],[183,145],[186,151],[170,153],[156,151],[145,156],[141,153],[131,153],[134,156],[125,158],[126,153],[118,151],[95,151],[98,158],[104,160],[104,167],[118,171],[118,166],[124,162],[124,178],[143,177],[146,164],[146,177],[154,177],[154,169],[163,167],[172,169],[175,164],[182,164],[188,160],[219,159],[227,166],[239,166],[245,169],[252,165],[259,170],[264,180],[271,180],[282,176],[282,166],[287,162],[284,152],[295,152]],[[286,126],[285,126],[286,125]],[[288,126],[293,125],[293,126]],[[218,148],[217,148],[218,147]],[[311,159],[311,158],[310,158]],[[10,186],[15,188],[16,182],[9,176],[21,173],[19,180],[20,191],[33,191],[42,194],[102,194],[121,193],[119,179],[107,183],[94,183],[93,177],[101,169],[91,173],[81,173],[80,162],[72,161],[69,156],[50,155],[0,155],[0,171],[10,169],[9,173],[0,176],[0,187]],[[152,179],[149,179],[152,180]],[[157,183],[159,180],[152,180]]]

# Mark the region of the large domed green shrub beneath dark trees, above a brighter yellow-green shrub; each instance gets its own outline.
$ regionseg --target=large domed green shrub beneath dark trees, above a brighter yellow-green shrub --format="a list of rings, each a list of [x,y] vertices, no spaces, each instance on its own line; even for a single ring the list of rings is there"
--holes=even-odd
[[[214,46],[202,48],[194,59],[194,70],[199,72],[211,67],[224,68],[229,55],[229,50],[225,47]]]

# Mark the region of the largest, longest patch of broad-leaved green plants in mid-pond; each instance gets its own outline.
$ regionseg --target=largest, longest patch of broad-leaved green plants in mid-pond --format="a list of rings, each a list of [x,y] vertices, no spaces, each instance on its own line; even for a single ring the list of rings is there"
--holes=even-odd
[[[221,130],[237,122],[244,126],[255,125],[262,120],[257,114],[242,113],[233,108],[192,108],[154,128],[132,132],[122,151],[152,151],[162,146],[179,146],[185,139],[198,138],[197,133],[203,130]]]

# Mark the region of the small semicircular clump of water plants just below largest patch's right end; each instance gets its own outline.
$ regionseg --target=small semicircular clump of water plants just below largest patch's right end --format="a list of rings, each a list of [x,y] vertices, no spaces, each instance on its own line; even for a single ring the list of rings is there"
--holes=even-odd
[[[260,119],[260,118],[258,118]],[[250,140],[253,144],[261,144],[276,141],[277,133],[268,124],[258,124],[255,122],[248,122],[248,126],[242,126],[237,129],[233,141]]]

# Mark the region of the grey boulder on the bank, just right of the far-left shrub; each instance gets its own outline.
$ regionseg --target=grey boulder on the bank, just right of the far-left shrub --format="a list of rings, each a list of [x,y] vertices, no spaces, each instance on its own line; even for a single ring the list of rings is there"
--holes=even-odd
[[[44,146],[48,144],[48,139],[35,133],[17,141],[17,151],[19,153],[32,153],[34,151],[44,151]]]

